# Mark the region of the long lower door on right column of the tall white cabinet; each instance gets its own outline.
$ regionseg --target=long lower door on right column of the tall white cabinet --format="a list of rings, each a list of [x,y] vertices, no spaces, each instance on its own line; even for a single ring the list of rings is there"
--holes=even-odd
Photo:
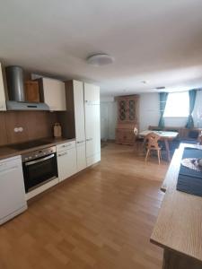
[[[100,105],[85,104],[87,166],[101,160]]]

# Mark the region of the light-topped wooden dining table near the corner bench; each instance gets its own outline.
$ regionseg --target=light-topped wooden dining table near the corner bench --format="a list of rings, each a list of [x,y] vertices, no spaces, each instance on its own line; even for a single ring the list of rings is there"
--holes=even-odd
[[[141,133],[139,133],[139,136],[145,137],[147,134],[155,133],[159,134],[161,136],[161,140],[165,143],[166,153],[167,153],[167,159],[168,161],[171,161],[171,154],[169,149],[169,141],[175,139],[179,133],[177,132],[167,132],[167,131],[152,131],[152,130],[145,130]]]

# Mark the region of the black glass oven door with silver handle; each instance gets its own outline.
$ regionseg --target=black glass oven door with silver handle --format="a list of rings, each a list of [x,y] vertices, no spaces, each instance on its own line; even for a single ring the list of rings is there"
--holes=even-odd
[[[52,153],[34,161],[26,161],[22,165],[26,193],[36,187],[57,178],[57,154]]]

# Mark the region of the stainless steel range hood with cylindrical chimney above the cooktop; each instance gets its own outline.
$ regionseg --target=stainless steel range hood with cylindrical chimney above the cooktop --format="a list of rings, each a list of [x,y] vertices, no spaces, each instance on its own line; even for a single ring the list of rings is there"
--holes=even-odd
[[[8,97],[7,110],[49,110],[45,103],[31,103],[25,101],[23,70],[20,66],[7,66],[5,68]]]

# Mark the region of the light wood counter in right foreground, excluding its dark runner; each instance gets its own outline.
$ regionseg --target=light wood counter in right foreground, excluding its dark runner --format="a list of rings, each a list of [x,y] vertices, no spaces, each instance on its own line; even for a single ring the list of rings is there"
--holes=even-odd
[[[162,184],[165,196],[150,239],[164,249],[163,269],[202,268],[202,197],[176,190],[185,147],[202,150],[199,145],[181,144],[174,153]]]

